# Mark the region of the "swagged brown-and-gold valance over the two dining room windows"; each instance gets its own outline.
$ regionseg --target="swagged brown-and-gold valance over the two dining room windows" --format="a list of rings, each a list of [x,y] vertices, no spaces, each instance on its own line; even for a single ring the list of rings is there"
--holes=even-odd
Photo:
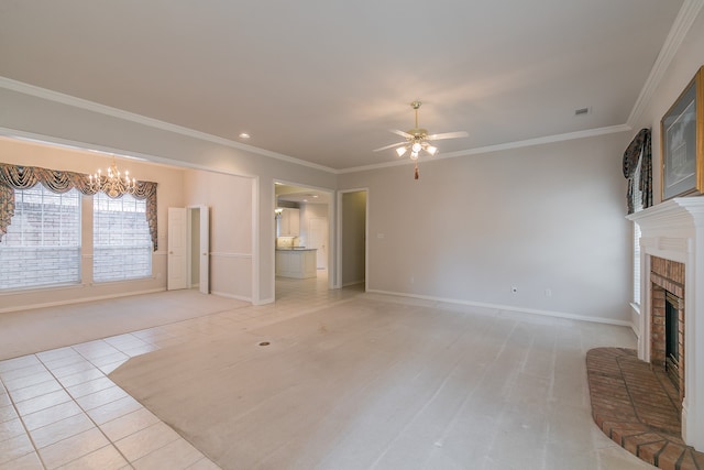
[[[66,193],[73,188],[92,196],[96,190],[88,175],[75,172],[59,172],[37,166],[19,166],[0,163],[0,237],[8,232],[14,216],[14,190],[28,189],[41,183],[53,193]],[[150,226],[154,251],[157,249],[156,230],[156,183],[136,182],[133,194],[136,199],[146,199],[146,221]]]

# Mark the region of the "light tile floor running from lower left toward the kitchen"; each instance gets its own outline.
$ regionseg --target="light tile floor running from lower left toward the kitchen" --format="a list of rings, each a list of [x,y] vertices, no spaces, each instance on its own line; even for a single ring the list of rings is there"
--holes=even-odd
[[[277,280],[276,304],[212,314],[0,361],[0,470],[218,469],[108,374],[130,358],[221,332],[223,325],[300,315],[356,295],[327,273]]]

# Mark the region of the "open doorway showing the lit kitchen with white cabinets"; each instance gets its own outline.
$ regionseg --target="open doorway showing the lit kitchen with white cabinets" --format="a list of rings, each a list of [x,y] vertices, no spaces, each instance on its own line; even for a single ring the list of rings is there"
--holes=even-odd
[[[333,192],[275,182],[274,193],[276,299],[332,288]]]

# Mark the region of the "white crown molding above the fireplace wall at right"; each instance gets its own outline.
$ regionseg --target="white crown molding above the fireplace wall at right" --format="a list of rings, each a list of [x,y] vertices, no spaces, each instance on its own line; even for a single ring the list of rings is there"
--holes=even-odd
[[[672,63],[680,45],[682,45],[682,41],[684,41],[694,20],[696,20],[702,7],[704,7],[704,0],[684,0],[684,3],[682,3],[682,8],[680,8],[680,12],[674,23],[672,23],[670,33],[668,33],[668,37],[660,50],[660,54],[658,54],[658,58],[650,70],[650,75],[648,75],[648,79],[640,90],[636,105],[634,105],[630,116],[626,121],[631,128],[638,125],[644,111],[650,103],[650,100],[652,100],[656,89],[660,85],[660,81],[662,81],[662,77]]]

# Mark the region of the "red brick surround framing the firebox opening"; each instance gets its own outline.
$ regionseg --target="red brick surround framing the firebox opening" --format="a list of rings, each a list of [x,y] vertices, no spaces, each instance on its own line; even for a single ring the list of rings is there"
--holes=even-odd
[[[650,258],[650,281],[652,283],[651,314],[650,314],[650,363],[656,370],[667,371],[670,379],[676,384],[680,400],[678,408],[682,409],[684,400],[684,264]],[[676,299],[671,302],[678,310],[678,350],[679,368],[666,369],[666,296],[667,292]]]

